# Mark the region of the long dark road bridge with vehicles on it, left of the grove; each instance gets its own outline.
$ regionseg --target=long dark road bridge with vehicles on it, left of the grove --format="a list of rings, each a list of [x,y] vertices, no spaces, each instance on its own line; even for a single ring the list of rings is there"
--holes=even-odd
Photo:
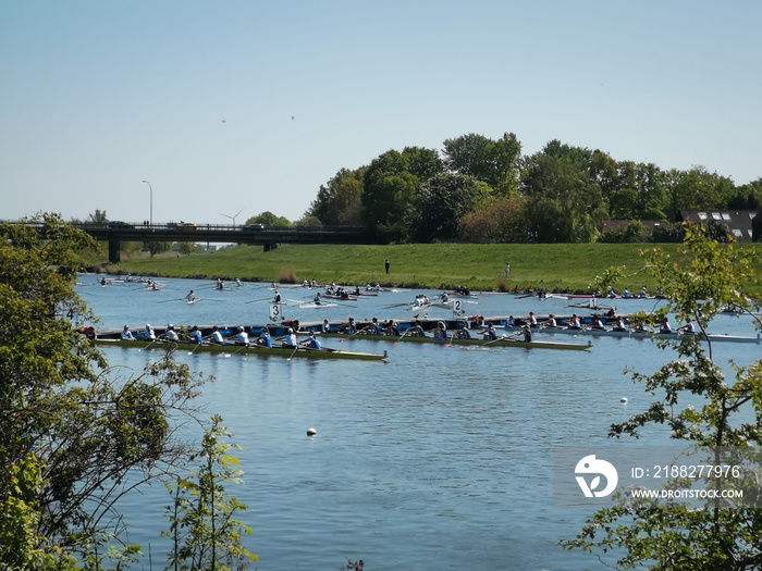
[[[122,241],[206,241],[262,246],[265,251],[279,244],[378,244],[357,226],[262,226],[248,224],[164,224],[107,222],[105,224],[72,224],[96,239],[109,243],[109,261],[120,261]]]

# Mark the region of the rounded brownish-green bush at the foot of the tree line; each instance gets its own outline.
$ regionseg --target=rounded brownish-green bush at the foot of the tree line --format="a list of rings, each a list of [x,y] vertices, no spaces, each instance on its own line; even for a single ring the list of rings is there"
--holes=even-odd
[[[496,197],[458,222],[458,236],[475,244],[523,243],[527,239],[527,200],[521,197]]]

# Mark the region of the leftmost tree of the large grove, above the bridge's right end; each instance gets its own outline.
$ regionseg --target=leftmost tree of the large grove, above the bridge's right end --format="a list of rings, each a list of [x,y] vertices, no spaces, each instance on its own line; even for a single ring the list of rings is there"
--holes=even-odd
[[[320,185],[318,197],[309,213],[331,226],[359,226],[362,211],[362,176],[365,167],[355,171],[342,169],[325,185]]]

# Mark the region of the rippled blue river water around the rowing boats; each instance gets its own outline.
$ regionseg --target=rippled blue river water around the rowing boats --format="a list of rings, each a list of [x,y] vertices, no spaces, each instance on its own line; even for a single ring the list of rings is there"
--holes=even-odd
[[[194,324],[262,324],[271,291],[247,284],[214,291],[210,282],[167,280],[165,289],[100,287],[82,276],[81,293],[101,326],[140,328]],[[204,300],[180,301],[189,289]],[[408,318],[416,294],[323,309],[283,308],[286,319]],[[314,293],[281,289],[287,299]],[[468,314],[570,313],[573,301],[482,295]],[[622,301],[620,311],[653,301]],[[447,316],[433,309],[430,316]],[[722,316],[715,333],[753,334],[745,320]],[[545,337],[543,337],[545,338]],[[579,342],[570,336],[548,339]],[[636,339],[590,338],[590,351],[474,349],[331,339],[331,347],[383,352],[388,362],[286,361],[255,356],[182,353],[194,371],[212,374],[205,388],[209,414],[220,413],[245,448],[245,483],[229,494],[248,504],[254,529],[247,547],[260,570],[336,570],[347,558],[367,570],[602,569],[598,560],[564,553],[555,543],[576,535],[585,508],[552,502],[553,446],[611,444],[607,427],[644,409],[649,398],[624,375],[626,367],[654,371],[673,357]],[[721,362],[758,359],[760,347],[716,344]],[[151,351],[109,349],[112,365],[139,371]],[[620,397],[629,402],[623,405]],[[308,427],[318,435],[306,436]],[[198,435],[196,435],[198,436]],[[664,443],[665,435],[650,434]],[[638,444],[642,444],[641,440]],[[628,443],[622,443],[627,445]],[[163,569],[158,537],[168,498],[161,486],[123,507],[130,539],[148,545],[152,568]],[[148,569],[148,561],[144,562]],[[253,567],[254,568],[254,567]]]

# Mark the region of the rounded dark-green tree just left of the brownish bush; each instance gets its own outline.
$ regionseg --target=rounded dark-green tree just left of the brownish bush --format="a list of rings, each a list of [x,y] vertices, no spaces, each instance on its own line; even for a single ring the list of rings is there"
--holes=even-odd
[[[410,216],[410,234],[419,243],[454,240],[460,216],[483,202],[492,189],[470,176],[438,174],[418,191]]]

